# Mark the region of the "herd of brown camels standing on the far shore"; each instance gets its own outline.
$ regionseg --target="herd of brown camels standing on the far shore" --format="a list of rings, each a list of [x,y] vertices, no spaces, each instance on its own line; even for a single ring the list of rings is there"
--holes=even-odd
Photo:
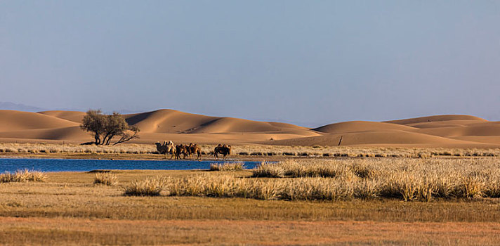
[[[202,157],[202,149],[195,143],[190,143],[189,145],[174,145],[172,141],[164,141],[163,143],[156,142],[154,143],[157,146],[157,150],[159,153],[165,155],[169,153],[171,154],[170,160],[173,157],[176,157],[175,160],[180,160],[180,155],[183,155],[183,159],[187,159],[187,157],[191,158],[193,155],[197,154],[196,160],[199,160]],[[223,160],[225,160],[226,155],[231,155],[231,145],[217,145],[216,148],[213,149],[213,157],[218,159],[218,155],[223,155]]]

